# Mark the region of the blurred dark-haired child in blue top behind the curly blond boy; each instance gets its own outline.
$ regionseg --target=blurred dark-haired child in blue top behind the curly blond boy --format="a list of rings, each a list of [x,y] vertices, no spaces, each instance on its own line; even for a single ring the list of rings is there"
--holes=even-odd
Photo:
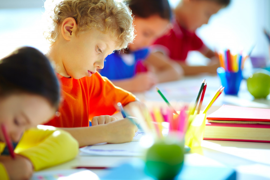
[[[134,17],[136,37],[128,49],[106,57],[100,70],[116,86],[131,92],[149,90],[154,84],[177,80],[181,67],[156,56],[150,45],[164,35],[170,25],[172,11],[167,0],[127,0]]]

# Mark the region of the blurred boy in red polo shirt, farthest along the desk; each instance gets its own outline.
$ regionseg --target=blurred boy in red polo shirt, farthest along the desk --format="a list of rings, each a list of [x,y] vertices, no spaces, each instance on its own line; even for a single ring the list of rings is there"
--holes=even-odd
[[[165,54],[183,67],[185,75],[204,72],[217,73],[219,62],[215,53],[204,45],[195,34],[195,30],[203,24],[207,24],[213,14],[228,6],[229,3],[230,0],[181,0],[174,11],[173,28],[167,35],[159,38],[155,44],[164,47]],[[210,63],[207,66],[185,64],[187,54],[191,50],[198,50],[205,57],[210,58]]]

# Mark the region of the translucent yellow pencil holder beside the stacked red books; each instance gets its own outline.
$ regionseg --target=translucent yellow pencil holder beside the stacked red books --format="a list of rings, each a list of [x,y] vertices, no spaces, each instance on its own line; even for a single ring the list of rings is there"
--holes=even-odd
[[[205,130],[206,114],[194,114],[188,118],[190,124],[185,133],[185,145],[193,148],[201,147]]]

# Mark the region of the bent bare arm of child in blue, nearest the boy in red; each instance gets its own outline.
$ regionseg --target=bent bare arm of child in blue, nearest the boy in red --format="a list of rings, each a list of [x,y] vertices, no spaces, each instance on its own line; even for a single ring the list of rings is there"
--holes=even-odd
[[[183,76],[181,66],[162,53],[150,53],[145,62],[154,68],[158,83],[178,80]]]

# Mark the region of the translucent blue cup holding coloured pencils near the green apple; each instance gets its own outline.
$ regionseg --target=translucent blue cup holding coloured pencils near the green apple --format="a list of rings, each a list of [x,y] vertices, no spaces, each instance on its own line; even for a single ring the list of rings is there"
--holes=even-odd
[[[217,74],[220,77],[221,84],[224,86],[224,93],[230,95],[237,95],[240,83],[243,79],[242,71],[228,72],[223,67],[217,68]]]

